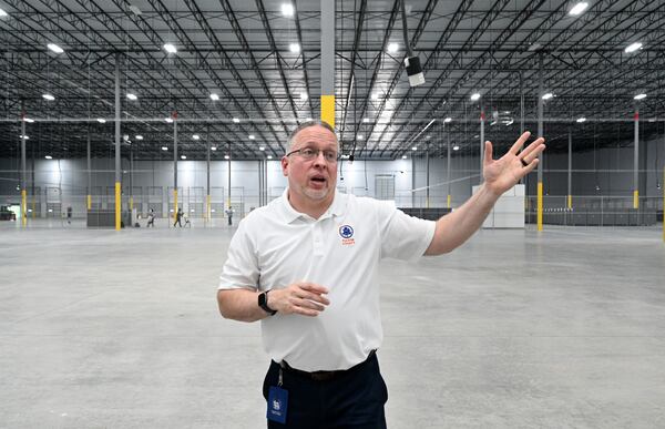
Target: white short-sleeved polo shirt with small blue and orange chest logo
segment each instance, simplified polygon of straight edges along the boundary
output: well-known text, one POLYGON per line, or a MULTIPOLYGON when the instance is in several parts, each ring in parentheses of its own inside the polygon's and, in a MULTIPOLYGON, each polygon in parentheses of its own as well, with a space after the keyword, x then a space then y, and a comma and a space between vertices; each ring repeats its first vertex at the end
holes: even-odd
POLYGON ((406 215, 389 202, 336 192, 318 219, 296 212, 288 190, 241 221, 231 241, 219 289, 268 290, 295 282, 328 288, 330 305, 317 317, 262 320, 264 348, 275 361, 305 371, 348 369, 383 339, 379 261, 416 261, 436 223, 406 215))

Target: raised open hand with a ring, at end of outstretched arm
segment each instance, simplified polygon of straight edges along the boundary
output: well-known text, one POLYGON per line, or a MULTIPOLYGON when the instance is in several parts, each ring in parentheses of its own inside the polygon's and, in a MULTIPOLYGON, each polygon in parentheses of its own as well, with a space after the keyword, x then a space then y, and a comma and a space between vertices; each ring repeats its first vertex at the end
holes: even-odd
POLYGON ((520 152, 520 149, 522 149, 530 135, 529 131, 522 134, 510 151, 499 160, 492 159, 492 143, 489 141, 485 142, 483 160, 484 185, 494 195, 500 196, 513 187, 538 165, 538 156, 545 150, 545 139, 536 139, 520 152))

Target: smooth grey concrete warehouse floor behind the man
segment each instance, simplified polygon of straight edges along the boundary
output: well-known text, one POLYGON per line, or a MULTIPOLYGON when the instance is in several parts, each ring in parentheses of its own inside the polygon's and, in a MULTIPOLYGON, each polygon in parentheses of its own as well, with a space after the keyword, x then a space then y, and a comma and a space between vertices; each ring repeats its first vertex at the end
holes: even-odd
MULTIPOLYGON (((0 427, 264 428, 232 233, 3 223, 0 427)), ((483 231, 381 279, 390 428, 665 427, 658 229, 483 231)))

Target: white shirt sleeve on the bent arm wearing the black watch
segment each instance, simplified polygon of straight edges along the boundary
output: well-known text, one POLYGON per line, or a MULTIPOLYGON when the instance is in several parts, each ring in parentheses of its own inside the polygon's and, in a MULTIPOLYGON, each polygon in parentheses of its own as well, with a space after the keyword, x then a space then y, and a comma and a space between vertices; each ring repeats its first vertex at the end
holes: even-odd
POLYGON ((238 229, 231 239, 227 259, 219 276, 218 289, 258 288, 258 259, 256 246, 247 228, 247 222, 241 221, 238 229))

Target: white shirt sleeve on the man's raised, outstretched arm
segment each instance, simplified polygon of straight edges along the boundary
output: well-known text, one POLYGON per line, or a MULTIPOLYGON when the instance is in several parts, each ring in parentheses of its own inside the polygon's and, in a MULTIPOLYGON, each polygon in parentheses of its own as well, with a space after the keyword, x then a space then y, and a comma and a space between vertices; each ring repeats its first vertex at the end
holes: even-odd
POLYGON ((415 262, 424 255, 437 223, 409 216, 388 202, 378 202, 378 225, 381 237, 381 258, 391 257, 415 262))

